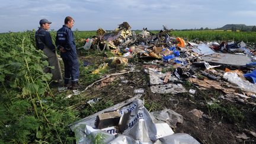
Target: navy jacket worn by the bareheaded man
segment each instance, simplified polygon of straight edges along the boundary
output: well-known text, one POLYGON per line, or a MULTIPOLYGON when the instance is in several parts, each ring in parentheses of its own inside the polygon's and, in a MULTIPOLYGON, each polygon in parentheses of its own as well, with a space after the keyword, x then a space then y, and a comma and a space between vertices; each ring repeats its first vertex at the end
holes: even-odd
POLYGON ((55 44, 57 49, 59 49, 60 46, 66 49, 66 52, 60 53, 60 56, 76 57, 76 44, 71 28, 63 25, 62 28, 57 31, 55 44))

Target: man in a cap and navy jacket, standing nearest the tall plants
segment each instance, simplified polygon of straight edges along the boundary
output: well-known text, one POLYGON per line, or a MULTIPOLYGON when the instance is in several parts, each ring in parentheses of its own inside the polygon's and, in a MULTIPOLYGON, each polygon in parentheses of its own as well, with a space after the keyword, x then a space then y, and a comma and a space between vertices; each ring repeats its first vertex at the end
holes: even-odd
POLYGON ((55 45, 52 43, 52 37, 50 33, 47 31, 50 28, 50 24, 52 22, 46 20, 45 18, 39 21, 40 27, 39 30, 36 31, 35 39, 36 39, 36 47, 37 49, 43 50, 44 55, 48 57, 49 66, 54 66, 53 69, 49 67, 44 69, 44 72, 52 73, 52 80, 57 82, 62 80, 62 73, 60 71, 60 64, 57 58, 55 45))

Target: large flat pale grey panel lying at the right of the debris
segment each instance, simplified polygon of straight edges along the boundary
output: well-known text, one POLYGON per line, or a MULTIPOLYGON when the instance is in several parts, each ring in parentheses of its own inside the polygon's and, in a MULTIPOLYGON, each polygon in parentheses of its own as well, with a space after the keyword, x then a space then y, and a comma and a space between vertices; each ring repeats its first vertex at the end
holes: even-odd
POLYGON ((206 62, 230 65, 230 66, 246 66, 251 63, 251 59, 247 55, 235 55, 229 53, 215 53, 213 55, 202 56, 206 62))

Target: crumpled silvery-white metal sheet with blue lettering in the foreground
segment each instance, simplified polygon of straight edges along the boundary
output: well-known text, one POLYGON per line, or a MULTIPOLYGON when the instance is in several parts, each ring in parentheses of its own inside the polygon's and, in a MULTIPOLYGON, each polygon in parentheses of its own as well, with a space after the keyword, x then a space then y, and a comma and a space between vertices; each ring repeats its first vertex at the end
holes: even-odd
POLYGON ((95 119, 103 111, 72 124, 76 143, 92 143, 96 136, 102 137, 102 143, 199 143, 185 133, 174 135, 171 127, 156 120, 143 104, 139 99, 129 100, 129 103, 123 102, 105 109, 104 111, 119 109, 121 118, 118 129, 115 126, 95 129, 95 119))

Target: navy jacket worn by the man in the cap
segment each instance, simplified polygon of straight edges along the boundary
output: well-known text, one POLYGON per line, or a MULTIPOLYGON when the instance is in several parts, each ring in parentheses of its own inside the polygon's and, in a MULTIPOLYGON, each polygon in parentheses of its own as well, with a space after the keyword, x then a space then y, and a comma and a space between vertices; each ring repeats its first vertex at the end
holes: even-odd
POLYGON ((52 37, 48 31, 40 27, 39 30, 36 31, 35 39, 37 49, 43 50, 44 46, 47 46, 49 49, 55 52, 55 45, 53 45, 52 37))

